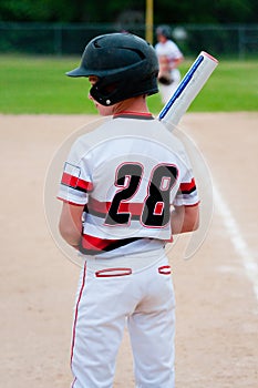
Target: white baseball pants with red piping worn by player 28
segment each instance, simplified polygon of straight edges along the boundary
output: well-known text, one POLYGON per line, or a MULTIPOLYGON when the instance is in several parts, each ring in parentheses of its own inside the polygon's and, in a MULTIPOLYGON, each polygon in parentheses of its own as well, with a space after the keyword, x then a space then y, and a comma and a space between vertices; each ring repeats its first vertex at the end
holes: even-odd
POLYGON ((126 323, 135 386, 174 388, 175 299, 164 249, 86 261, 74 310, 72 388, 113 387, 126 323))

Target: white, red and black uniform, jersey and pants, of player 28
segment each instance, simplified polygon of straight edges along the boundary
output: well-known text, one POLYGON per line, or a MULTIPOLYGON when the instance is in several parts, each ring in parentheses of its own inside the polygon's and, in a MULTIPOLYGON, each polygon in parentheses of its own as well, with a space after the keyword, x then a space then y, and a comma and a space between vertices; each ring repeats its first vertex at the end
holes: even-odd
POLYGON ((174 292, 164 245, 173 205, 198 203, 182 143, 151 114, 116 115, 74 143, 58 196, 84 206, 73 387, 112 387, 126 320, 136 386, 173 388, 174 292))

